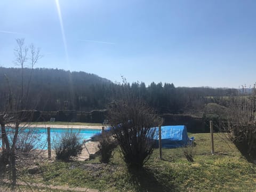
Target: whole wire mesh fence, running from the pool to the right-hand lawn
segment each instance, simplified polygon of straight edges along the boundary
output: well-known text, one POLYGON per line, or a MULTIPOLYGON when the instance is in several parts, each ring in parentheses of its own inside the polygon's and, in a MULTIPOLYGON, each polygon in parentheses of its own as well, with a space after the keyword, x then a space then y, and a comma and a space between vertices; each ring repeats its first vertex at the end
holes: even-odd
MULTIPOLYGON (((103 126, 104 127, 104 126, 103 126)), ((106 127, 105 127, 106 128, 106 127)), ((9 132, 12 129, 9 128, 9 132)), ((45 158, 55 158, 55 145, 61 142, 63 135, 75 133, 78 135, 79 142, 82 143, 81 154, 78 155, 79 161, 93 159, 99 155, 99 142, 93 139, 93 135, 101 134, 102 125, 29 125, 24 126, 19 133, 19 145, 33 147, 34 155, 45 158)), ((10 139, 11 139, 11 134, 10 139)), ((178 148, 162 148, 162 158, 169 159, 185 157, 186 151, 193 155, 210 155, 212 152, 211 134, 209 133, 188 133, 188 137, 194 137, 194 140, 187 146, 178 148)), ((227 133, 213 133, 214 153, 231 154, 235 151, 235 146, 228 140, 227 133)), ((1 138, 0 138, 1 140, 1 138)), ((2 141, 0 149, 2 148, 2 141)), ((115 158, 121 158, 119 150, 115 150, 115 158)), ((159 157, 159 148, 156 147, 152 158, 159 157)))

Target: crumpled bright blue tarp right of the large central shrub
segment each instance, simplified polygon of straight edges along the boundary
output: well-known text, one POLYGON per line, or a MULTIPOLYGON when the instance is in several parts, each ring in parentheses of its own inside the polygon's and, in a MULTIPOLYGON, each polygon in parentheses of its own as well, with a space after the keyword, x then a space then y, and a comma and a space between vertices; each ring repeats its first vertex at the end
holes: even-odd
MULTIPOLYGON (((185 125, 162 126, 161 131, 163 148, 184 147, 190 143, 185 125)), ((158 127, 156 127, 156 135, 154 139, 156 140, 156 145, 158 146, 158 127)))

